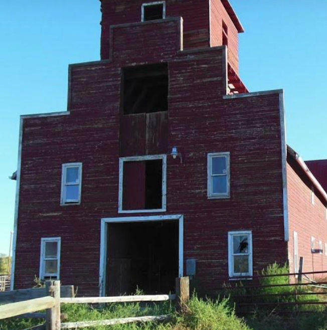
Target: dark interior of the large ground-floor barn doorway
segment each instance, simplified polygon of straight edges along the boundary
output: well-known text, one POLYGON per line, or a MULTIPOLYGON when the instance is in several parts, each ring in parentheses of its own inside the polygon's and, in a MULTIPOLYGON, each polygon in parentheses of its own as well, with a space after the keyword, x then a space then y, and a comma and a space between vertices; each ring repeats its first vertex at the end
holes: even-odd
POLYGON ((108 224, 106 295, 174 292, 178 274, 178 221, 108 224))

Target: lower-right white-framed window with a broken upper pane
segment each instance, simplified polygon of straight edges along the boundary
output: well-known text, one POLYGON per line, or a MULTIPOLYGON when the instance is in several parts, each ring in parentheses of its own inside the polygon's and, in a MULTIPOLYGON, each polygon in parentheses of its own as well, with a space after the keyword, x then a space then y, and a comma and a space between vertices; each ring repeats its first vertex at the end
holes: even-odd
POLYGON ((252 232, 228 233, 229 277, 252 276, 252 232))

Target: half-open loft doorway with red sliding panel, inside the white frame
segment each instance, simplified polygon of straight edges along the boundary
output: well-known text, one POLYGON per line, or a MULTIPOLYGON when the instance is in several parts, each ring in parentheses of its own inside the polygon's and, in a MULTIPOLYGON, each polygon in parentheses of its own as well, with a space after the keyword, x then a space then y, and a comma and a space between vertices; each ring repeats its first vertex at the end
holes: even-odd
POLYGON ((123 165, 123 210, 162 208, 162 159, 125 161, 123 165))

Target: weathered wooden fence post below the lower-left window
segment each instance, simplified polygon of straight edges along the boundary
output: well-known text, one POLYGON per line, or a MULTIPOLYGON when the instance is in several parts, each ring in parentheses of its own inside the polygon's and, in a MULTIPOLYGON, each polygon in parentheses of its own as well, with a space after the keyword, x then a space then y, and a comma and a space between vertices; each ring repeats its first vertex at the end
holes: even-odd
POLYGON ((46 330, 60 330, 60 281, 46 281, 46 292, 55 299, 55 306, 46 311, 46 330))

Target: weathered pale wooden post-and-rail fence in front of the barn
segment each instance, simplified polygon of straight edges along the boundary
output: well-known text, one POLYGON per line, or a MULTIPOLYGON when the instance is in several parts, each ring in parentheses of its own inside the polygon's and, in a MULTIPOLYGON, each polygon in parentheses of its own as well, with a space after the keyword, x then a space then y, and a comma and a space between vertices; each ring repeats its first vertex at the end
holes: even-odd
POLYGON ((188 277, 176 279, 176 294, 161 295, 134 295, 118 297, 74 297, 72 286, 60 287, 60 281, 47 281, 46 287, 41 289, 16 290, 0 293, 0 320, 21 316, 45 318, 45 324, 34 328, 34 330, 60 330, 77 329, 98 325, 126 324, 132 322, 164 321, 170 315, 140 316, 116 318, 96 321, 79 321, 62 323, 61 304, 68 303, 121 303, 121 302, 140 302, 140 301, 167 301, 177 300, 177 308, 183 311, 190 298, 190 281, 188 277), (6 294, 4 294, 6 293, 6 294), (29 299, 26 299, 28 298, 29 299), (33 298, 32 298, 33 297, 33 298), (13 302, 15 301, 15 302, 13 302), (45 314, 36 313, 46 310, 45 314))

